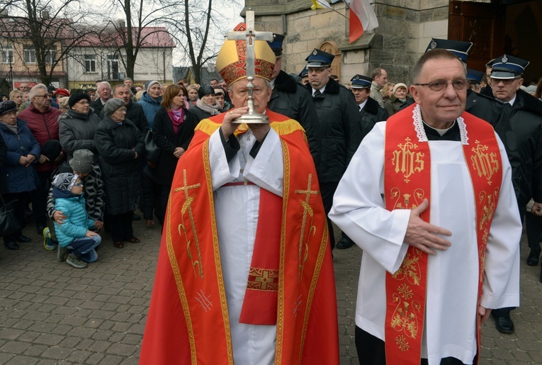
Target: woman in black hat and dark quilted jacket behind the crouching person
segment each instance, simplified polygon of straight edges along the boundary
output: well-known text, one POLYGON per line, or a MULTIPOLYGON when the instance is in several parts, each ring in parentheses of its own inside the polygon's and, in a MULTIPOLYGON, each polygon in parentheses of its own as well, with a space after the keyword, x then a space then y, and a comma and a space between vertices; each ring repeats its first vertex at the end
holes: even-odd
POLYGON ((73 94, 69 96, 68 111, 58 118, 60 145, 67 153, 68 161, 77 150, 90 150, 95 162, 98 161, 94 135, 100 118, 92 112, 90 103, 88 94, 73 94))

